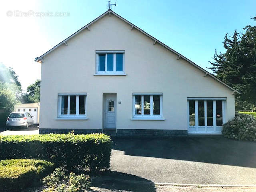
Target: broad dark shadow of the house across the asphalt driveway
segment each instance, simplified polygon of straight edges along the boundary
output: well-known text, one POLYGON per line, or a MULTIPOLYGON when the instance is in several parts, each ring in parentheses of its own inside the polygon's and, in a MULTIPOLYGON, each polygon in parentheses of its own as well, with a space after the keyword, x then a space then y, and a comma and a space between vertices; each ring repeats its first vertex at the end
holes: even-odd
POLYGON ((223 136, 113 138, 112 149, 130 156, 256 168, 256 142, 223 136))

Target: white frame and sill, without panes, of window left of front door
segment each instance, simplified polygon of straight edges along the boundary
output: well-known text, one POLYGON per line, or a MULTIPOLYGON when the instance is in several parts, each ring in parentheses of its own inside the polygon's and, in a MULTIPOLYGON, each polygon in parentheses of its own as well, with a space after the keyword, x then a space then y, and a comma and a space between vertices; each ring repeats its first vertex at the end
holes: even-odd
POLYGON ((58 93, 58 115, 56 120, 87 120, 87 94, 86 93, 58 93), (85 114, 79 114, 79 96, 85 96, 85 114), (61 114, 62 96, 68 96, 68 114, 61 114), (70 113, 70 96, 76 96, 76 114, 70 113))

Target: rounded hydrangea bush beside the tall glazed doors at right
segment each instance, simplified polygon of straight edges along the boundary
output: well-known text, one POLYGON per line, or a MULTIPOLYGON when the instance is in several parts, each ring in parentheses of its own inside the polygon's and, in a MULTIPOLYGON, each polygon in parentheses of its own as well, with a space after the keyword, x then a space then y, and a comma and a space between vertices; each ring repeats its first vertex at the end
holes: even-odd
POLYGON ((232 121, 223 124, 222 134, 227 138, 256 141, 256 118, 236 113, 232 121))

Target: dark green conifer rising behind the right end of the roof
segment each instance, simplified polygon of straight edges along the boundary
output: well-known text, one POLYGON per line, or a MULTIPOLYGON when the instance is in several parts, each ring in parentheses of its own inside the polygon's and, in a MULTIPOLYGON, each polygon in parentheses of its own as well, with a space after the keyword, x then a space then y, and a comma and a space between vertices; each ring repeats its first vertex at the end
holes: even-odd
MULTIPOLYGON (((256 21, 256 17, 252 20, 256 21)), ((225 53, 215 50, 212 67, 214 74, 242 94, 236 96, 237 110, 256 108, 256 26, 246 26, 244 33, 236 30, 225 35, 225 53)))

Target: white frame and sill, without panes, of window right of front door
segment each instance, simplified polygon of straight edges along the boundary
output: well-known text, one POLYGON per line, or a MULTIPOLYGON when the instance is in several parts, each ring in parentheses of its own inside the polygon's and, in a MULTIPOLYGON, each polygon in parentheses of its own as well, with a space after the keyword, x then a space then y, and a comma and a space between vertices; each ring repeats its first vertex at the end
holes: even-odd
POLYGON ((132 120, 165 120, 163 118, 163 94, 162 93, 133 93, 132 94, 132 120), (142 112, 141 115, 135 114, 135 96, 141 96, 142 112), (150 96, 150 114, 144 115, 144 95, 150 96), (160 96, 160 114, 153 114, 153 96, 160 96))

